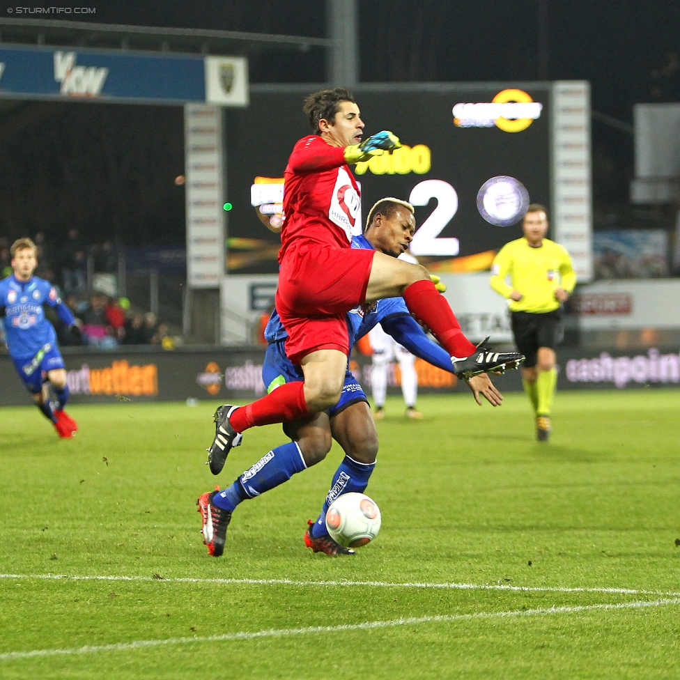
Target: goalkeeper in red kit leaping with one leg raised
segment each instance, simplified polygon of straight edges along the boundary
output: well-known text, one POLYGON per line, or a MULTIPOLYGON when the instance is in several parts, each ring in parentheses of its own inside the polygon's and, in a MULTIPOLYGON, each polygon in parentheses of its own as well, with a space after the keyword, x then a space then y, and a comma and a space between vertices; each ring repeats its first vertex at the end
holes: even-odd
POLYGON ((301 366, 304 382, 281 385, 247 406, 217 409, 208 449, 213 474, 247 428, 294 421, 337 403, 351 349, 345 314, 358 305, 402 296, 451 355, 460 378, 516 368, 523 360, 517 353, 475 347, 421 265, 351 247, 362 218, 360 191, 348 166, 399 148, 399 139, 387 131, 363 139, 359 107, 345 88, 309 95, 304 113, 313 134, 295 144, 284 173, 276 295, 288 333, 286 354, 301 366))

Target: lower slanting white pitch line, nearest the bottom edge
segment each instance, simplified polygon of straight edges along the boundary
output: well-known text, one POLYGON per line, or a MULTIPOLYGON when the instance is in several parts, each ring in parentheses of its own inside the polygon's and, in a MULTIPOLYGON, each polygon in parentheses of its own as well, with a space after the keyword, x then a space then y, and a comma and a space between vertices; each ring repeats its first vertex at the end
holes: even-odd
POLYGON ((343 631, 365 631, 371 628, 394 628, 396 626, 414 626, 416 624, 446 623, 448 621, 470 621, 473 619, 502 619, 508 617, 528 617, 547 614, 575 614, 592 610, 641 609, 647 607, 663 607, 680 604, 680 598, 660 599, 654 601, 627 602, 620 604, 582 605, 578 607, 551 607, 527 609, 511 612, 478 612, 477 614, 454 614, 429 617, 408 617, 392 619, 392 621, 365 621, 362 624, 343 624, 341 626, 309 626, 307 628, 280 628, 270 631, 241 631, 225 635, 210 635, 205 638, 168 638, 166 640, 137 640, 136 642, 118 642, 117 644, 100 644, 89 647, 72 647, 71 649, 34 649, 33 651, 9 651, 0 654, 0 661, 15 659, 56 656, 59 654, 93 654, 99 651, 125 651, 126 649, 142 649, 144 647, 162 647, 164 645, 195 644, 196 642, 228 642, 230 640, 254 640, 255 638, 283 638, 288 635, 308 635, 314 633, 341 633, 343 631))

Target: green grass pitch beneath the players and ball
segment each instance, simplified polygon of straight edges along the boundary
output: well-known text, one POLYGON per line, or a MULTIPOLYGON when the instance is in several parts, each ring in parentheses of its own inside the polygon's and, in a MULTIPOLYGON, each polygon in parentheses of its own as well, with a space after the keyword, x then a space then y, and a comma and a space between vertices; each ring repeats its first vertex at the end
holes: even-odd
POLYGON ((247 432, 212 477, 215 403, 73 406, 74 440, 35 408, 3 408, 0 571, 143 580, 0 578, 0 677, 677 678, 680 604, 640 603, 680 591, 680 392, 560 394, 548 444, 521 394, 497 409, 462 394, 418 405, 412 421, 388 399, 368 489, 383 528, 338 559, 302 542, 337 447, 243 503, 215 559, 196 497, 284 442, 278 426, 247 432), (330 581, 364 585, 318 585, 330 581), (615 604, 632 606, 597 606, 615 604), (111 644, 130 647, 7 656, 111 644))

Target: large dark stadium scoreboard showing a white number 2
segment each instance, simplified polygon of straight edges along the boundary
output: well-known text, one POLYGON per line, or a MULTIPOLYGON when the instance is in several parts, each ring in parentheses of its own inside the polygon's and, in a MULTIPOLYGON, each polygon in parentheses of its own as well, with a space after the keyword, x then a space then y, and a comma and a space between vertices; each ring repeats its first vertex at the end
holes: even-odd
MULTIPOLYGON (((314 86, 260 88, 252 88, 248 109, 225 112, 226 187, 233 203, 226 270, 231 274, 277 272, 279 236, 265 223, 280 224, 288 156, 295 142, 311 132, 302 102, 314 86)), ((385 196, 408 200, 417 219, 412 253, 422 263, 442 272, 488 268, 495 252, 521 235, 529 203, 553 210, 564 194, 555 185, 554 89, 552 83, 354 88, 364 139, 391 130, 403 144, 392 154, 353 167, 362 220, 385 196)), ((580 114, 583 118, 585 111, 580 114)), ((580 132, 589 137, 589 128, 580 132)), ((572 217, 567 215, 562 224, 571 219, 572 231, 579 231, 579 219, 589 227, 590 199, 589 159, 579 161, 578 151, 589 154, 589 148, 569 144, 567 139, 564 167, 571 162, 573 170, 580 162, 577 169, 585 179, 574 184, 572 178, 565 185, 567 194, 570 186, 572 194, 580 187, 583 196, 572 203, 580 214, 571 210, 572 217)), ((555 219, 551 222, 554 227, 555 219)), ((582 246, 584 239, 578 240, 582 246)))

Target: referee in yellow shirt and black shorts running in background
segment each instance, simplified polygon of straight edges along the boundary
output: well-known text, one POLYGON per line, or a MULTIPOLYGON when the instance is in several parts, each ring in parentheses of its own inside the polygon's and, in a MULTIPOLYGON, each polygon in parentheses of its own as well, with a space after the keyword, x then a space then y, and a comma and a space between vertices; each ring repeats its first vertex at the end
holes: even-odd
POLYGON ((557 386, 555 346, 561 331, 560 305, 571 295, 576 275, 569 253, 546 238, 546 208, 532 203, 522 229, 523 238, 506 243, 495 257, 491 287, 508 300, 517 350, 527 357, 522 382, 534 407, 536 438, 546 442, 557 386), (511 285, 505 281, 508 276, 511 285))

